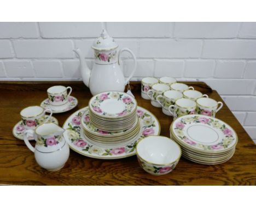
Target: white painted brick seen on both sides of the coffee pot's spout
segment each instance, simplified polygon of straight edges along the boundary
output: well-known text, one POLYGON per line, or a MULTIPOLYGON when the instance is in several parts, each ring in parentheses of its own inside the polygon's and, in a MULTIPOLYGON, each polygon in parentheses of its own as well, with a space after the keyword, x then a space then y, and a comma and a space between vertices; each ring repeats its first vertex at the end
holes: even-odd
MULTIPOLYGON (((85 60, 89 69, 92 69, 93 62, 92 60, 85 60)), ((63 73, 65 77, 68 78, 82 78, 80 73, 80 62, 79 60, 63 60, 63 73)))

